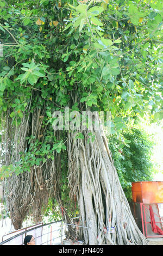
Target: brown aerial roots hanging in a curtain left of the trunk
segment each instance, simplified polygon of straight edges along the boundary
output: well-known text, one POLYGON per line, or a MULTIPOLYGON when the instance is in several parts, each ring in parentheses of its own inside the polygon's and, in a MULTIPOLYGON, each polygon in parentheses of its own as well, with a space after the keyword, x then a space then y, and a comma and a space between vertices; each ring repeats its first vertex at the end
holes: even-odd
MULTIPOLYGON (((17 163, 21 166, 21 155, 28 152, 29 148, 26 137, 32 135, 30 143, 33 144, 36 140, 43 141, 45 128, 42 127, 42 117, 45 109, 35 108, 31 112, 30 102, 20 124, 17 119, 13 123, 10 118, 11 109, 8 109, 5 117, 2 116, 1 162, 5 166, 16 166, 17 163)), ((59 187, 60 169, 56 164, 58 157, 59 154, 54 153, 54 160, 46 157, 46 161, 40 162, 39 166, 30 167, 30 172, 22 167, 20 174, 16 175, 14 172, 9 178, 3 179, 5 202, 15 229, 22 227, 28 214, 33 215, 35 223, 42 220, 42 206, 47 205, 49 197, 55 196, 59 187)))

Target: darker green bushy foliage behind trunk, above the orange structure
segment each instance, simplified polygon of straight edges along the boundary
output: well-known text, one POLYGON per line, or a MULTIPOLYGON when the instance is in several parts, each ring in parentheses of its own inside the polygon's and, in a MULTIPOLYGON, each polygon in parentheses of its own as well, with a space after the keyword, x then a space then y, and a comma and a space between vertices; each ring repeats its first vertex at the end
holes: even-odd
POLYGON ((130 147, 124 145, 119 149, 117 138, 110 136, 109 148, 112 152, 114 164, 120 178, 121 185, 128 200, 132 200, 131 182, 150 181, 155 172, 151 156, 154 141, 143 130, 132 127, 124 133, 130 147))

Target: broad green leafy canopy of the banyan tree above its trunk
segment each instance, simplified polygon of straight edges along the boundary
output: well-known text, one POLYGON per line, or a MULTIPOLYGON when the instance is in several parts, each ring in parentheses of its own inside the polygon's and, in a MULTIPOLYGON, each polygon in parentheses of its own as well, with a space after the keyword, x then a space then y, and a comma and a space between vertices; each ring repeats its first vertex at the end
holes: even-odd
MULTIPOLYGON (((29 111, 44 107, 46 127, 55 121, 54 110, 82 110, 84 102, 111 111, 112 133, 137 115, 151 112, 152 120, 161 119, 161 1, 68 4, 1 1, 1 113, 10 109, 12 124, 19 125, 29 111)), ((35 142, 21 153, 17 174, 46 156, 53 159, 54 149, 65 149, 64 139, 57 141, 50 127, 41 136, 27 137, 29 144, 35 142)))

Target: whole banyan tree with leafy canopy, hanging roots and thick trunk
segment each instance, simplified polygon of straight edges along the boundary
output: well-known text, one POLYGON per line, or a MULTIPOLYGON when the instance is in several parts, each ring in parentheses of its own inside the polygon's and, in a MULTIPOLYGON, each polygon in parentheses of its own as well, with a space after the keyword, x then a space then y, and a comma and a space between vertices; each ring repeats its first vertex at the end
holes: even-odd
POLYGON ((70 223, 66 179, 86 244, 147 245, 108 139, 122 148, 130 121, 162 118, 160 1, 0 6, 1 181, 15 229, 39 222, 51 197, 70 223))

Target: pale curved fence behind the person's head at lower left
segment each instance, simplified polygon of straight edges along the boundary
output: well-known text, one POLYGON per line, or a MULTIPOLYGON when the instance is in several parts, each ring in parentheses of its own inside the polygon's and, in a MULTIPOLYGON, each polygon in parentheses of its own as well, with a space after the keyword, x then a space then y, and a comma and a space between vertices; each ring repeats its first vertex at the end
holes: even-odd
MULTIPOLYGON (((8 234, 12 236, 2 241, 0 245, 23 245, 24 237, 28 234, 35 237, 35 245, 62 245, 66 239, 65 231, 68 230, 68 225, 71 225, 73 230, 82 227, 77 224, 63 223, 62 221, 47 224, 38 223, 32 227, 26 228, 26 230, 18 230, 18 234, 14 235, 15 232, 8 234)), ((5 236, 3 236, 3 239, 4 237, 5 236)), ((78 241, 78 244, 83 243, 84 241, 78 241)))

